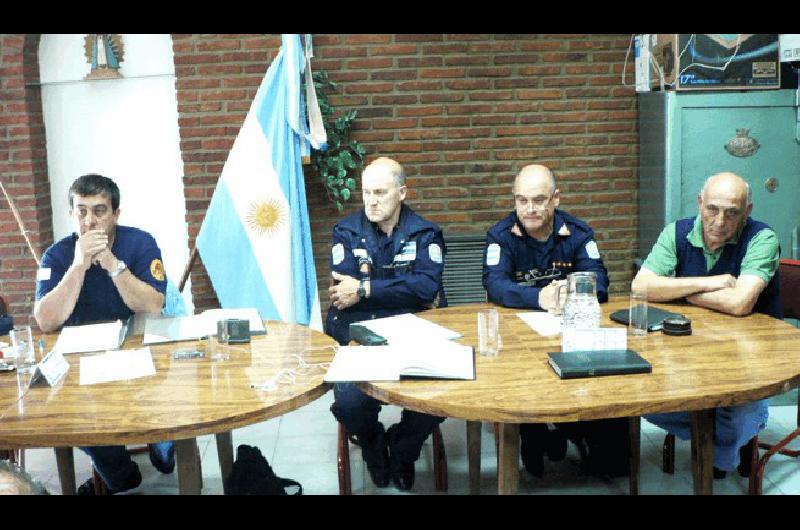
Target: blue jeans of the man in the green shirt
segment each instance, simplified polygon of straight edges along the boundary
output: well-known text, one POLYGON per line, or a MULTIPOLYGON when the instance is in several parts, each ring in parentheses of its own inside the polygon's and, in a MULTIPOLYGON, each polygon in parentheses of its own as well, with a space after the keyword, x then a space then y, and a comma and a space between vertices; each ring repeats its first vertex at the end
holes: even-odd
MULTIPOLYGON (((688 412, 650 414, 644 417, 681 440, 691 438, 688 412)), ((766 399, 719 407, 714 416, 714 467, 731 471, 739 465, 739 449, 767 426, 769 406, 766 399)))

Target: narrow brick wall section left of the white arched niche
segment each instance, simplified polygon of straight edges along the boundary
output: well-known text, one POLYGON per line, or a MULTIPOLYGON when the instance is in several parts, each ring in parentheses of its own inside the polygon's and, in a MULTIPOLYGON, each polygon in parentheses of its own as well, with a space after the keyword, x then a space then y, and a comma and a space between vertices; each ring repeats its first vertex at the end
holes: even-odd
MULTIPOLYGON (((0 35, 0 178, 41 255, 53 242, 39 83, 39 35, 0 35)), ((33 324, 36 263, 0 197, 0 295, 15 323, 33 324)))

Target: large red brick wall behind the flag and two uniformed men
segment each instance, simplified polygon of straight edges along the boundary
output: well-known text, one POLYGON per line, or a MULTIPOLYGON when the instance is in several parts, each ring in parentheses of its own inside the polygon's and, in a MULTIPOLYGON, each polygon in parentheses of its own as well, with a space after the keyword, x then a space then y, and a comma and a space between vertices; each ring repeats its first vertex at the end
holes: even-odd
MULTIPOLYGON (((277 35, 174 35, 190 245, 277 35)), ((368 159, 408 174, 408 203, 450 233, 483 233, 513 208, 528 163, 559 179, 561 208, 596 230, 611 292, 626 292, 637 246, 636 99, 620 74, 627 35, 314 35, 315 70, 339 83, 331 102, 358 109, 368 159)), ((628 65, 632 72, 632 64, 628 65)), ((630 83, 630 74, 628 76, 630 83)), ((320 297, 341 215, 307 174, 320 297)), ((360 197, 345 213, 354 211, 360 197)), ((217 302, 202 265, 198 309, 217 302)))

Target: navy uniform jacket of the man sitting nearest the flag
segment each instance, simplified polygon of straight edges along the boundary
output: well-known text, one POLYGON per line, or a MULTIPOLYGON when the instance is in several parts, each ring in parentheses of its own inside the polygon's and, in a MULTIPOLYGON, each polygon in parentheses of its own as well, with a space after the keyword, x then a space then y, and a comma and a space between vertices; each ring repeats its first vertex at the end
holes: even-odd
POLYGON ((325 332, 347 344, 350 323, 447 305, 442 286, 442 230, 406 205, 391 236, 360 210, 333 227, 331 271, 362 278, 359 259, 368 257, 370 296, 344 310, 331 306, 325 332))

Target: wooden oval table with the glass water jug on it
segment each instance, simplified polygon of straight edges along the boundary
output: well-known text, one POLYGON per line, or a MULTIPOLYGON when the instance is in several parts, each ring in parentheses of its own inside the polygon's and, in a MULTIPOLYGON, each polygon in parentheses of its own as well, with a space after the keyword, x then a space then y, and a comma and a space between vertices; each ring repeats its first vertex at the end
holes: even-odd
MULTIPOLYGON (((627 304, 627 298, 602 304, 601 325, 620 326, 608 315, 627 308, 627 304)), ((694 432, 695 493, 711 493, 714 408, 766 398, 799 386, 800 330, 762 314, 733 317, 688 304, 654 305, 689 317, 693 334, 629 336, 628 347, 652 364, 650 374, 561 380, 547 361, 547 352, 560 351, 560 335, 538 335, 516 316, 523 310, 469 304, 418 316, 462 333, 459 342, 474 346, 477 352, 476 312, 497 308, 502 349, 497 357, 476 353, 475 381, 375 382, 362 383, 361 387, 388 403, 467 420, 473 492, 480 470, 479 422, 502 424, 498 488, 500 493, 516 493, 520 423, 630 417, 635 437, 632 446, 638 456, 640 416, 689 411, 694 432)), ((636 492, 638 469, 632 469, 631 474, 632 492, 636 492)))

